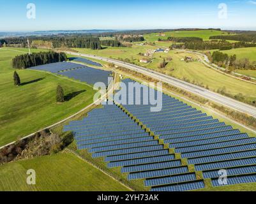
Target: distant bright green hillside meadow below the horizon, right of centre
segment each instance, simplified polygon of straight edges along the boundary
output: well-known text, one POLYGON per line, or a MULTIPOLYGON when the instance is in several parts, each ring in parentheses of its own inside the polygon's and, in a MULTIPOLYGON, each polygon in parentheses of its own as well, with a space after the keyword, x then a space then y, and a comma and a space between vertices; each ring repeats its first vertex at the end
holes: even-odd
POLYGON ((227 35, 223 31, 215 30, 200 30, 200 31, 170 31, 165 32, 165 36, 159 36, 160 33, 145 34, 144 38, 146 41, 154 42, 158 41, 158 38, 167 39, 168 37, 199 37, 203 40, 209 40, 210 36, 227 35))

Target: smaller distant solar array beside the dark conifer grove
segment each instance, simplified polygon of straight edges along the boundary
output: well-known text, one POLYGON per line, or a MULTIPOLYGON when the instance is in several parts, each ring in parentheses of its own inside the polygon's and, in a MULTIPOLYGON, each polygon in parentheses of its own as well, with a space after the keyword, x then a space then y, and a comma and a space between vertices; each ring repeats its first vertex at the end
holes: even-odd
MULTIPOLYGON (((87 61, 89 64, 95 66, 102 66, 93 61, 79 58, 81 60, 87 61)), ((34 66, 30 69, 50 71, 51 73, 57 73, 58 75, 63 75, 65 77, 74 78, 80 82, 86 82, 87 84, 95 84, 96 82, 103 82, 105 85, 109 85, 109 76, 111 71, 105 71, 102 69, 89 68, 82 64, 77 64, 73 62, 56 62, 51 64, 44 64, 40 66, 34 66)))

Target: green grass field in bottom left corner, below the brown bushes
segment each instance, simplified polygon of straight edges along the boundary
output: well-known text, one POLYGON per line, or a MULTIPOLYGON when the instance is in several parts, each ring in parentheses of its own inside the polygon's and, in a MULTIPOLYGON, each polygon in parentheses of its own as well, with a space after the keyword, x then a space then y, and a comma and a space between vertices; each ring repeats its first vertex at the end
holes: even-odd
POLYGON ((0 166, 0 191, 128 191, 102 171, 70 153, 59 153, 0 166), (36 185, 26 172, 36 171, 36 185))

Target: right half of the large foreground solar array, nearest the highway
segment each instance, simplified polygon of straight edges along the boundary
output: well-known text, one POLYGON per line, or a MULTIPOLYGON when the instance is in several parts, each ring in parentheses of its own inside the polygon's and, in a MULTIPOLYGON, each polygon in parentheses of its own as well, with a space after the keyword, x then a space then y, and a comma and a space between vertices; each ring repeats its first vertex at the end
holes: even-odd
MULTIPOLYGON (((126 79, 123 82, 128 87, 133 81, 126 79)), ((145 100, 144 87, 141 85, 141 92, 136 95, 137 103, 143 103, 145 100)), ((151 91, 154 92, 156 99, 157 91, 151 91)), ((133 93, 134 90, 126 92, 128 96, 132 96, 133 93)), ((181 154, 181 158, 188 159, 188 164, 195 165, 196 171, 203 171, 204 178, 213 175, 219 177, 216 172, 220 169, 227 169, 231 172, 230 175, 237 176, 243 172, 256 172, 256 168, 251 166, 256 163, 256 138, 250 138, 246 133, 241 133, 238 129, 233 129, 232 126, 211 116, 202 115, 202 112, 192 106, 165 94, 162 94, 160 112, 151 112, 151 105, 129 105, 130 103, 126 102, 123 107, 128 112, 135 115, 136 119, 164 143, 168 143, 170 149, 181 154), (231 171, 229 168, 235 169, 231 171)), ((135 102, 134 99, 133 104, 136 104, 135 102)), ((136 175, 141 177, 143 174, 137 173, 133 176, 136 175)))

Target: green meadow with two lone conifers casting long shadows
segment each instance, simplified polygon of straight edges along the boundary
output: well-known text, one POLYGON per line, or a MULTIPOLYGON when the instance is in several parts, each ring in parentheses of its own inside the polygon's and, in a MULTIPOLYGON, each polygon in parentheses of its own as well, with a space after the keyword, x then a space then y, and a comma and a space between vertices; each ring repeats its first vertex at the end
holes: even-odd
POLYGON ((0 146, 54 124, 93 102, 91 86, 42 71, 17 70, 24 84, 15 87, 11 59, 25 50, 0 49, 0 146), (58 84, 63 86, 66 96, 83 92, 57 104, 58 84))

